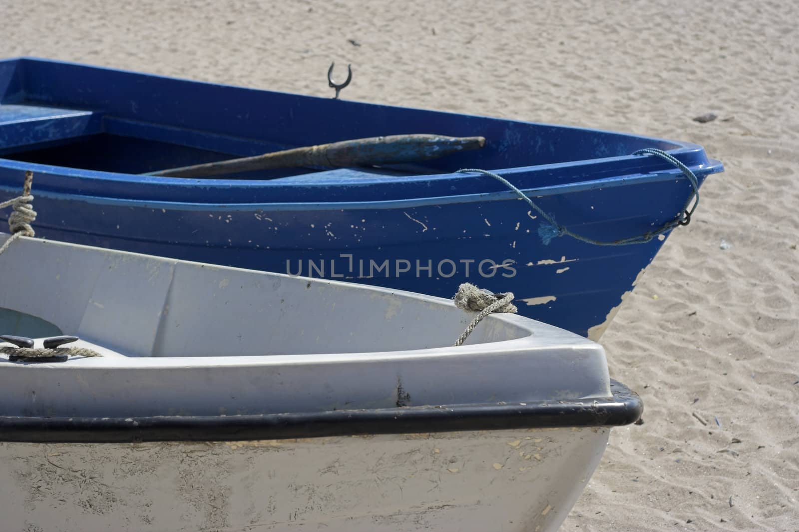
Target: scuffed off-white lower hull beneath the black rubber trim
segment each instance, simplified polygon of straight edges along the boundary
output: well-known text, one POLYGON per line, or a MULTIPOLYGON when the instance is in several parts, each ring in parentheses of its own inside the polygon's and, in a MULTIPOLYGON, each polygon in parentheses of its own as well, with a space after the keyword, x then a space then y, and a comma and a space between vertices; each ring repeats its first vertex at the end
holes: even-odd
POLYGON ((557 530, 609 427, 0 443, 3 530, 557 530))

